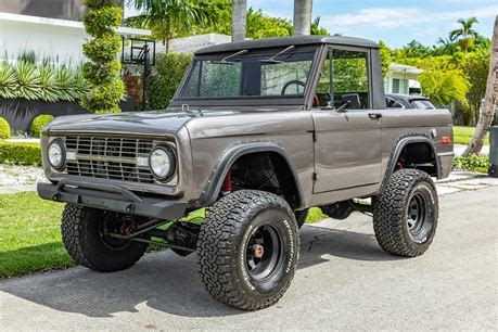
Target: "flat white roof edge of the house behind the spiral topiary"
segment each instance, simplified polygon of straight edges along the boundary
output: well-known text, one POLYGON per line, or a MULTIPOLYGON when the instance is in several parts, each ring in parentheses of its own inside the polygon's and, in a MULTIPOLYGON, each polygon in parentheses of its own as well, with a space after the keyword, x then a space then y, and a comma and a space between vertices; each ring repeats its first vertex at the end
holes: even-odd
MULTIPOLYGON (((82 22, 31 16, 31 15, 12 14, 12 13, 5 13, 5 12, 0 12, 0 21, 51 25, 51 26, 60 26, 60 27, 75 28, 75 29, 85 29, 82 22)), ((117 33, 124 36, 151 36, 152 35, 150 30, 137 29, 137 28, 130 28, 130 27, 124 27, 124 26, 119 26, 117 28, 117 33)))

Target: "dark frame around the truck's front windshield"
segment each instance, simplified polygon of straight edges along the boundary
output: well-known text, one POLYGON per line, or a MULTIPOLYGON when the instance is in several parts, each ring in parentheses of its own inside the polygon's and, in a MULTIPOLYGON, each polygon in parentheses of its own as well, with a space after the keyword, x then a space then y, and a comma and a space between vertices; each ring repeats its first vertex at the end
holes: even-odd
MULTIPOLYGON (((289 47, 289 46, 288 46, 289 47)), ((312 90, 314 80, 316 76, 317 67, 320 63, 322 44, 312 44, 312 46, 296 46, 291 52, 286 52, 281 56, 288 56, 295 53, 306 53, 312 52, 311 64, 306 79, 306 87, 303 91, 303 94, 276 94, 276 95, 234 95, 234 97, 195 97, 195 98, 186 98, 181 93, 187 87, 191 75, 194 73, 195 63, 199 61, 214 60, 219 61, 224 58, 233 54, 233 52, 220 52, 212 54, 201 54, 195 55, 192 59, 183 78, 177 89, 174 98, 171 99, 171 106, 180 106, 182 104, 189 105, 206 105, 206 106, 229 106, 229 105, 306 105, 309 98, 309 91, 312 90)), ((270 59, 276 53, 281 52, 284 48, 274 47, 274 48, 265 48, 265 49, 250 49, 246 54, 234 58, 254 58, 261 56, 270 59)), ((233 61, 233 59, 230 59, 233 61)))

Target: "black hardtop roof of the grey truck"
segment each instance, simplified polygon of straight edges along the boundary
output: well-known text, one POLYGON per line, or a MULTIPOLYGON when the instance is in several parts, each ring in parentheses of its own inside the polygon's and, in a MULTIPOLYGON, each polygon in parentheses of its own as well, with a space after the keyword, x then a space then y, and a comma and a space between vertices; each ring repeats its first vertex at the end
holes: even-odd
POLYGON ((378 49, 379 44, 368 39, 355 38, 355 37, 342 37, 342 36, 292 36, 292 37, 279 37, 279 38, 263 38, 263 39, 250 39, 244 41, 218 43, 207 48, 203 48, 195 52, 195 54, 208 54, 219 52, 230 52, 238 50, 247 49, 266 49, 276 47, 286 46, 302 46, 302 44, 340 44, 340 46, 353 46, 353 47, 365 47, 378 49))

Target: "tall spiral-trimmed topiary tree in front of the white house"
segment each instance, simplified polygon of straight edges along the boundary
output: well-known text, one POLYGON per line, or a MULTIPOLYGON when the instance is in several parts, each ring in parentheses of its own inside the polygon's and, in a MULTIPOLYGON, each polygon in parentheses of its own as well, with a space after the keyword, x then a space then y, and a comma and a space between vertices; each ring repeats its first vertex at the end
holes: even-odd
POLYGON ((86 0, 88 13, 84 16, 87 34, 92 37, 84 44, 84 54, 90 61, 84 64, 85 78, 91 90, 81 99, 82 107, 93 113, 120 112, 119 101, 125 87, 119 77, 117 59, 122 39, 116 28, 122 22, 123 8, 118 0, 86 0))

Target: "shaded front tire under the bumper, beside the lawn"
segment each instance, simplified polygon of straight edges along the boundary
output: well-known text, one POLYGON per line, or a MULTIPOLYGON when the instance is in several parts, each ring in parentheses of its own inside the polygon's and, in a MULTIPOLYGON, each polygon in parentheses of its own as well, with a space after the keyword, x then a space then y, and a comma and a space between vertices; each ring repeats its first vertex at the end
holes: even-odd
POLYGON ((66 204, 62 216, 62 241, 78 265, 100 272, 127 269, 143 256, 148 244, 126 240, 116 246, 106 243, 101 232, 105 213, 110 212, 66 204))

